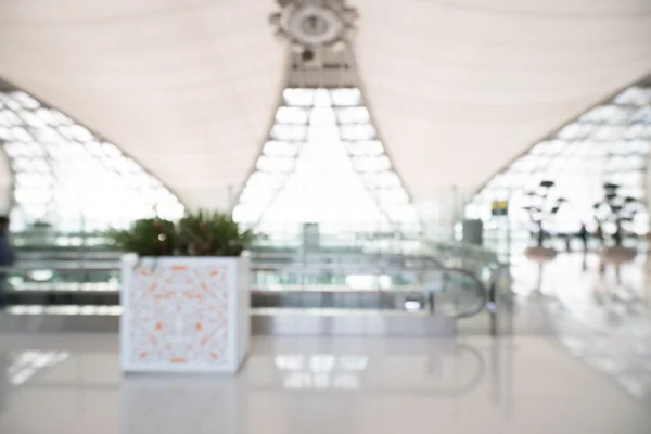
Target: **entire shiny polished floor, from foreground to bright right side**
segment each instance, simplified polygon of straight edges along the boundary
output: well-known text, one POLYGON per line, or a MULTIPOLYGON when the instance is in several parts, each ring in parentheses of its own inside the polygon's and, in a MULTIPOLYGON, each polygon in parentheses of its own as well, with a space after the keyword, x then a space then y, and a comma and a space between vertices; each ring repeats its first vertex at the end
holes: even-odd
MULTIPOLYGON (((651 433, 651 268, 513 267, 501 337, 255 337, 237 378, 123 376, 114 333, 1 333, 0 433, 651 433)), ((39 329, 40 330, 40 329, 39 329)))

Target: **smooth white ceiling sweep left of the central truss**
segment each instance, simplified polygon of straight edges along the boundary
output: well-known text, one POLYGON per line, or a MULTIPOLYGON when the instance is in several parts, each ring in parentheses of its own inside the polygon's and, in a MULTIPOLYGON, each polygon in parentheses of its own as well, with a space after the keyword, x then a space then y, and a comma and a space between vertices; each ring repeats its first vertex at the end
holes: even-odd
POLYGON ((190 206, 224 206, 280 99, 270 0, 0 0, 0 76, 94 129, 190 206))

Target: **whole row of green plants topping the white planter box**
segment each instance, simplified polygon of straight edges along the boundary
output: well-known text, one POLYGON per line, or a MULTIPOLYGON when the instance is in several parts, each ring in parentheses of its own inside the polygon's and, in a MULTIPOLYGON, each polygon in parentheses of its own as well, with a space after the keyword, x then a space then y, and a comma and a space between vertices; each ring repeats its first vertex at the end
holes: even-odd
POLYGON ((113 245, 140 256, 240 256, 253 242, 230 216, 200 210, 179 222, 136 220, 129 229, 106 233, 113 245))

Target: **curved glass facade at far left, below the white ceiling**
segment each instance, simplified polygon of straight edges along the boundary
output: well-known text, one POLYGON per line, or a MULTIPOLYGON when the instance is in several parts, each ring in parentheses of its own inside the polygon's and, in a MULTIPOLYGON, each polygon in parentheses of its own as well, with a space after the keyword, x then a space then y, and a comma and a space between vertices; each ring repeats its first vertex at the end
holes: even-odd
POLYGON ((0 90, 0 143, 13 175, 12 228, 60 232, 120 228, 184 208, 115 145, 17 90, 0 90))

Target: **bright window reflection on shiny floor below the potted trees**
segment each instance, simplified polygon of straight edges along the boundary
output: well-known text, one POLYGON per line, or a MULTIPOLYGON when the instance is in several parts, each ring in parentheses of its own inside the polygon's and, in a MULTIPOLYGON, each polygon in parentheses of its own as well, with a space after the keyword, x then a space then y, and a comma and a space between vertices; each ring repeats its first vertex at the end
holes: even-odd
POLYGON ((561 254, 513 267, 515 315, 545 316, 569 354, 651 401, 651 291, 647 258, 601 268, 595 255, 561 254), (540 278, 541 276, 541 278, 540 278))

